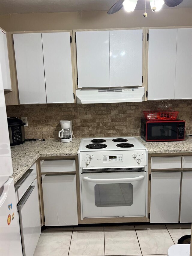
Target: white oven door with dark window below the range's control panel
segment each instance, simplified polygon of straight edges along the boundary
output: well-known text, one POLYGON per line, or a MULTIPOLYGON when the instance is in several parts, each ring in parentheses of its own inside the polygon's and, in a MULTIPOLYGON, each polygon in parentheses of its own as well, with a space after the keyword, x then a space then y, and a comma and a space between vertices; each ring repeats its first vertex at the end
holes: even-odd
POLYGON ((82 217, 146 216, 146 172, 82 173, 82 217))

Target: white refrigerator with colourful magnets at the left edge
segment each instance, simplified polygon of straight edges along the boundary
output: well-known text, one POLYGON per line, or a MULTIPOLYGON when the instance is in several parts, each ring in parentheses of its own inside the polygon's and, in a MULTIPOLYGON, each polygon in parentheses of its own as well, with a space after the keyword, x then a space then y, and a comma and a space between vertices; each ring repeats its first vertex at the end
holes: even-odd
POLYGON ((0 256, 22 256, 2 75, 0 72, 0 256))

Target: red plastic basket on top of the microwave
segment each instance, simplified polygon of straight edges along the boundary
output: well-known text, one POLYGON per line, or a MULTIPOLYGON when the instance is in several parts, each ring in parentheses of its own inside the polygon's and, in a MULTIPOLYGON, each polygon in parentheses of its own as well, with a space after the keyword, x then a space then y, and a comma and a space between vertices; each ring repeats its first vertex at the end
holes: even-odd
POLYGON ((162 120, 176 120, 178 111, 164 110, 164 111, 143 111, 145 119, 149 121, 162 121, 162 120))

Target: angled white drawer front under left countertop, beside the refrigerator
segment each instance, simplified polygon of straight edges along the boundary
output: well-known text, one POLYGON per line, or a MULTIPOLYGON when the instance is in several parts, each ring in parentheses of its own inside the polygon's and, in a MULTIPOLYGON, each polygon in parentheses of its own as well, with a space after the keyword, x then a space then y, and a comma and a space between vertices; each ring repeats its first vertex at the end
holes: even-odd
POLYGON ((25 194, 29 186, 32 184, 34 179, 37 176, 37 170, 36 170, 36 163, 33 164, 29 170, 26 171, 26 173, 21 177, 21 179, 16 182, 15 185, 19 185, 19 188, 17 189, 17 195, 18 195, 18 201, 22 198, 22 196, 25 194))

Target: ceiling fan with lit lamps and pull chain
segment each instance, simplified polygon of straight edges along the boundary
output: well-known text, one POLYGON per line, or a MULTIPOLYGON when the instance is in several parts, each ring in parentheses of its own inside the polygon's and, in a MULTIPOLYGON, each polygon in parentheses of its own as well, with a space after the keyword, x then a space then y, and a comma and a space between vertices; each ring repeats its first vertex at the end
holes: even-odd
MULTIPOLYGON (((183 0, 150 0, 152 11, 159 11, 165 3, 168 7, 175 7, 180 5, 183 0)), ((118 0, 107 12, 107 14, 114 14, 122 9, 124 6, 125 11, 134 11, 137 5, 137 0, 118 0)), ((146 0, 145 0, 145 12, 144 17, 147 17, 146 13, 146 0)))

